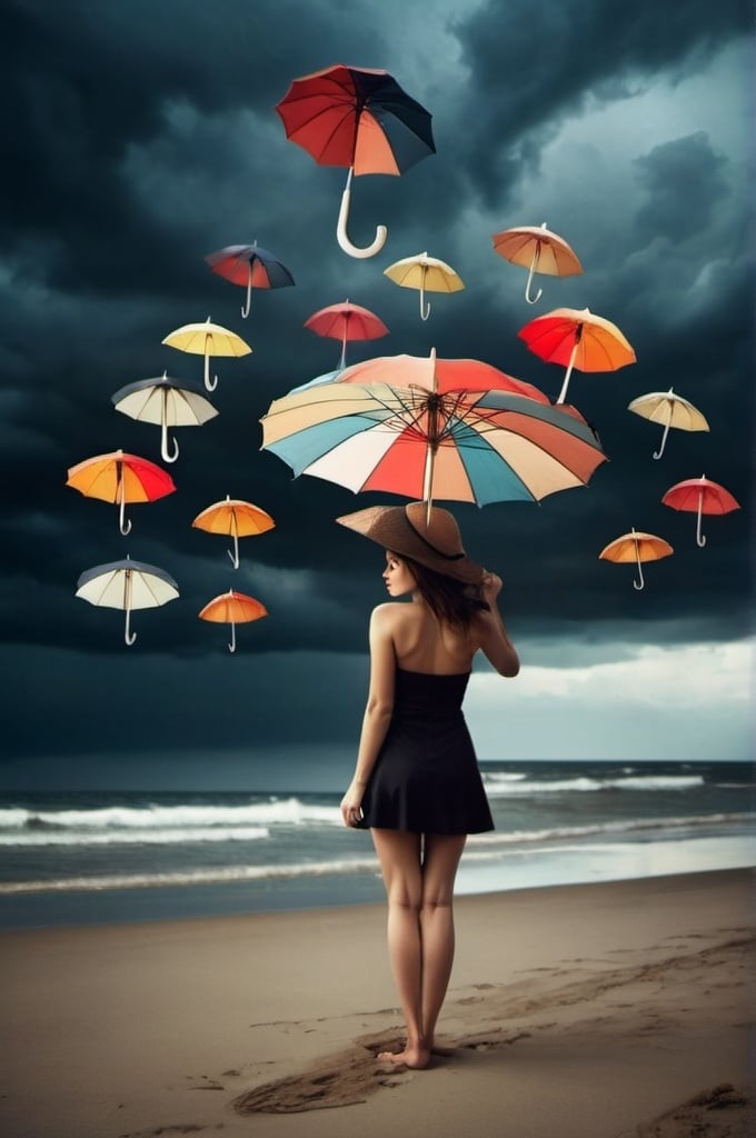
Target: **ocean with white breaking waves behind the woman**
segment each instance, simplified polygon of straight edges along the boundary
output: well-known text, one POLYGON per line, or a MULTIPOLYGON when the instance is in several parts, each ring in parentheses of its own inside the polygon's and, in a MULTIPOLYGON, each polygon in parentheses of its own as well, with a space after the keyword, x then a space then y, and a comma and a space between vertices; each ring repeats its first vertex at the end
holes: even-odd
MULTIPOLYGON (((756 863, 747 762, 480 764, 495 832, 458 894, 756 863)), ((318 908, 384 897, 340 793, 0 792, 0 929, 318 908)))

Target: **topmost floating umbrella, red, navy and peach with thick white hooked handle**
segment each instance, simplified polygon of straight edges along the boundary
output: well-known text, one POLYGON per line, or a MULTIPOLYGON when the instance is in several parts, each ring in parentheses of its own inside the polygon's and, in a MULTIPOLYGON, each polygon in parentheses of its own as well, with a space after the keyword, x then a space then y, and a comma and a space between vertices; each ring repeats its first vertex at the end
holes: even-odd
POLYGON ((351 257, 372 257, 386 242, 378 225, 367 248, 346 231, 352 176, 403 174, 435 154, 430 115, 385 71, 335 64, 295 79, 277 105, 286 137, 321 166, 348 167, 336 237, 351 257))

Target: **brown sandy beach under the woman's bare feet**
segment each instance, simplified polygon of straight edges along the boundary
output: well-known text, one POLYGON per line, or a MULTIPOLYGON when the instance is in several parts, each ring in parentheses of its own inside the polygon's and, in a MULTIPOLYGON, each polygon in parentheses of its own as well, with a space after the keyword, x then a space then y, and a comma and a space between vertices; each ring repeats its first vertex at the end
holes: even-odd
POLYGON ((462 897, 428 1071, 383 906, 0 935, 5 1138, 739 1138, 748 871, 462 897))

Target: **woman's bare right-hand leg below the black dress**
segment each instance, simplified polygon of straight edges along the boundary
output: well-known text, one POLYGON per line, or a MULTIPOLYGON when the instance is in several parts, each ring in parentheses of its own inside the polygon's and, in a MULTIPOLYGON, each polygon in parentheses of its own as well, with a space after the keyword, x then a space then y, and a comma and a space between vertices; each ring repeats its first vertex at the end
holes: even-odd
POLYGON ((454 960, 454 917, 452 897, 454 877, 465 849, 465 834, 426 834, 422 859, 422 901, 420 906, 421 1023, 426 1047, 434 1044, 454 960))

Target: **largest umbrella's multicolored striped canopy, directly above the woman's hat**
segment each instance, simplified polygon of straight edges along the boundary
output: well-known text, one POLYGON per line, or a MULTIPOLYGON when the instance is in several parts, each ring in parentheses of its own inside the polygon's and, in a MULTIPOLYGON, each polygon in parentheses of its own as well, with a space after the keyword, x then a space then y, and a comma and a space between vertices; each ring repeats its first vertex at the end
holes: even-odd
POLYGON ((585 422, 509 391, 336 382, 274 401, 263 450, 354 493, 428 503, 540 501, 582 486, 605 454, 585 422))

